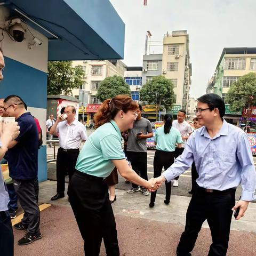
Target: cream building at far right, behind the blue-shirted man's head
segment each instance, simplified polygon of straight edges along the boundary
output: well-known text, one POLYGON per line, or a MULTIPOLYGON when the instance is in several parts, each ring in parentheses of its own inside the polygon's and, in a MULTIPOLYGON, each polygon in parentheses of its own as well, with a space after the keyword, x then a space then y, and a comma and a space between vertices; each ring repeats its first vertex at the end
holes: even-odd
POLYGON ((207 92, 212 92, 220 95, 225 101, 226 115, 230 123, 237 124, 241 118, 241 113, 232 113, 229 110, 229 102, 227 101, 227 93, 230 86, 237 79, 250 72, 256 73, 256 47, 232 47, 224 48, 215 73, 209 84, 207 92))

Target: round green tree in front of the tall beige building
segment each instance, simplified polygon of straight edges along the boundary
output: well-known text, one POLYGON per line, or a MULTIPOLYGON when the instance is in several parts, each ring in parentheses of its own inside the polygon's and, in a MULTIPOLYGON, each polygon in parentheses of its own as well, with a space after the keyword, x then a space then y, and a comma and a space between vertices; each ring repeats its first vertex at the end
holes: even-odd
POLYGON ((140 100, 158 106, 164 105, 166 111, 170 110, 174 102, 172 82, 164 76, 153 77, 140 90, 140 100))

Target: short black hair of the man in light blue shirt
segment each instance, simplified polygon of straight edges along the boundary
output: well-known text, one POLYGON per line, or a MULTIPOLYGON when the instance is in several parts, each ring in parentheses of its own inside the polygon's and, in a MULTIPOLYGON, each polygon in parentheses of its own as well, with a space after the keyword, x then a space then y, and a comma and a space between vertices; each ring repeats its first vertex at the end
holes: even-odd
POLYGON ((226 112, 225 102, 218 94, 207 93, 199 97, 197 100, 202 103, 206 103, 211 111, 214 108, 218 108, 221 118, 225 115, 225 112, 226 112))

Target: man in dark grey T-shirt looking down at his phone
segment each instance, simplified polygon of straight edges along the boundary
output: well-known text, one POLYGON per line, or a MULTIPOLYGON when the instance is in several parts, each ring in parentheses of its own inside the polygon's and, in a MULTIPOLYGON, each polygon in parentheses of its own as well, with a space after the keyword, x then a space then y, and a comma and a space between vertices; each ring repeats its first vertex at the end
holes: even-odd
MULTIPOLYGON (((141 178, 148 180, 148 167, 147 167, 147 138, 154 136, 151 123, 148 119, 141 116, 142 106, 139 104, 137 109, 137 119, 133 128, 129 131, 127 142, 127 158, 131 161, 133 170, 140 175, 141 178)), ((138 185, 132 183, 132 188, 127 190, 131 194, 137 191, 145 196, 149 195, 146 188, 139 188, 138 185)))

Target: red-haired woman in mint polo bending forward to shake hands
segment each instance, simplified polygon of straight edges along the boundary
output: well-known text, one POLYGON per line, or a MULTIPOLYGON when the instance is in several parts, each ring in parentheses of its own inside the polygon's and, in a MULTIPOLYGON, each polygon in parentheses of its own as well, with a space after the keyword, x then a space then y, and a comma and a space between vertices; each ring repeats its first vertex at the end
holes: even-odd
POLYGON ((94 116, 97 127, 77 158, 68 186, 69 202, 84 239, 86 256, 98 256, 103 238, 106 253, 119 256, 115 217, 105 178, 114 167, 126 179, 154 191, 154 179, 144 180, 126 161, 121 132, 132 129, 138 103, 128 95, 105 100, 94 116))

